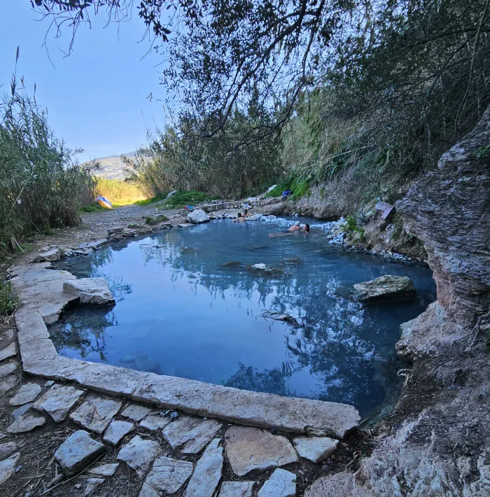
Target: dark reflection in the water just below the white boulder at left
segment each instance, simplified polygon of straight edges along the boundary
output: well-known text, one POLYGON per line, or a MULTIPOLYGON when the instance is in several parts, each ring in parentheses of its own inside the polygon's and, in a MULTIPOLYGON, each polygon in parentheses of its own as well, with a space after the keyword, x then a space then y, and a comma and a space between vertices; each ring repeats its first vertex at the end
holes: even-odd
POLYGON ((95 352, 105 361, 107 328, 118 325, 112 309, 108 306, 85 307, 66 313, 61 321, 49 329, 57 351, 64 348, 76 350, 81 358, 95 352))

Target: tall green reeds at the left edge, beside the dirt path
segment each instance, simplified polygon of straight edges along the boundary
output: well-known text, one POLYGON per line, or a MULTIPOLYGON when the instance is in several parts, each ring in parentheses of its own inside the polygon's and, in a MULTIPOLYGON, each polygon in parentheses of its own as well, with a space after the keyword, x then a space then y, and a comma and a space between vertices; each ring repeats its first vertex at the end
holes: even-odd
POLYGON ((94 202, 92 165, 54 137, 45 111, 17 90, 0 103, 0 253, 31 232, 80 223, 80 208, 94 202), (19 239, 19 240, 18 240, 19 239))

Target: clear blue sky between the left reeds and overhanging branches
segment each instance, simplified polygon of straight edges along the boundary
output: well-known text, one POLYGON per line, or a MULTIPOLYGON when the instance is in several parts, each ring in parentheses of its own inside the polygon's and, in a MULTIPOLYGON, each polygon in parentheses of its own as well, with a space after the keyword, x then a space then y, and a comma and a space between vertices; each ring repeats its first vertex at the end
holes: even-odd
POLYGON ((146 129, 164 124, 163 97, 157 65, 162 56, 145 55, 148 38, 141 43, 144 24, 134 12, 132 20, 104 27, 92 19, 92 29, 78 29, 73 52, 64 57, 71 31, 61 39, 48 38, 48 20, 38 22, 29 0, 0 0, 0 92, 10 88, 15 50, 20 46, 18 76, 36 101, 47 107, 50 126, 70 148, 83 148, 79 160, 134 151, 146 139, 146 129), (54 67, 53 67, 54 64, 54 67))

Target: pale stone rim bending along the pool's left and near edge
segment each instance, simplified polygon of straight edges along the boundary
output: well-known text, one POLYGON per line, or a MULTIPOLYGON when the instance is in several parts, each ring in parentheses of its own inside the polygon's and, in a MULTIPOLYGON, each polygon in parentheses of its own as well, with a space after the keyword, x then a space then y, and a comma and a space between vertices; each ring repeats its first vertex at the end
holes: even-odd
POLYGON ((12 276, 22 304, 15 313, 20 356, 29 374, 73 381, 160 408, 291 433, 343 438, 358 426, 360 416, 351 405, 239 390, 59 356, 45 320, 51 323, 52 316, 58 316, 67 304, 76 304, 76 297, 62 290, 64 281, 75 276, 52 269, 49 262, 18 266, 12 276), (43 298, 43 288, 49 292, 48 301, 43 298))

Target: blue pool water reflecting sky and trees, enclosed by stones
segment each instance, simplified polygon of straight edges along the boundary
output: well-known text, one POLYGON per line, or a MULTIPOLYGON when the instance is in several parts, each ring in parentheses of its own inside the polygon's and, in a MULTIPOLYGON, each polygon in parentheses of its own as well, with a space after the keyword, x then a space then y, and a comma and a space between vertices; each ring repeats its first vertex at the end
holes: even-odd
POLYGON ((60 354, 237 388, 347 402, 361 415, 393 387, 399 325, 435 300, 430 270, 329 245, 321 233, 229 220, 118 242, 58 264, 104 276, 116 306, 68 312, 60 354), (232 264, 226 264, 232 262, 232 264), (261 274, 250 265, 276 269, 261 274), (225 264, 225 267, 223 267, 225 264), (354 283, 409 276, 413 302, 363 306, 354 283), (300 327, 263 316, 287 313, 300 327))

